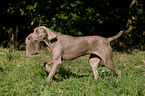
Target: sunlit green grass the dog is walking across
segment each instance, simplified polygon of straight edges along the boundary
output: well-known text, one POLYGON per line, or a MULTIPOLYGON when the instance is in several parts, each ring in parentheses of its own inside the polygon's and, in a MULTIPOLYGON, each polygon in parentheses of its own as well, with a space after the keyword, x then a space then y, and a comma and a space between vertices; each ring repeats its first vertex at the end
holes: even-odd
POLYGON ((63 61, 49 83, 43 64, 51 57, 47 50, 41 53, 40 58, 27 58, 25 51, 0 48, 0 96, 145 96, 145 52, 114 52, 122 78, 101 62, 94 80, 84 56, 63 61))

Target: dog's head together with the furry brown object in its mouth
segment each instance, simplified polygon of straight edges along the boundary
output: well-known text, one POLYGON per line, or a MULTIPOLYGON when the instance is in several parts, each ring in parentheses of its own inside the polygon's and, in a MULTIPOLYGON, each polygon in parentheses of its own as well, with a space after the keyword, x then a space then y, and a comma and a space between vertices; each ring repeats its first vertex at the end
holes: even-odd
POLYGON ((48 36, 48 40, 54 39, 55 34, 45 26, 37 27, 25 40, 26 56, 31 57, 33 54, 39 54, 39 42, 43 41, 48 36))

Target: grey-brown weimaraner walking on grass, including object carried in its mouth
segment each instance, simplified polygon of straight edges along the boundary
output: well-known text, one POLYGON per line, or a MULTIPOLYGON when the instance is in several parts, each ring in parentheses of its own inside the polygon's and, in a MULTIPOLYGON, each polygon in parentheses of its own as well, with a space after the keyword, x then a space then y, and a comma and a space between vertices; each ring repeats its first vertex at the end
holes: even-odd
POLYGON ((44 41, 48 45, 48 50, 52 56, 46 64, 46 69, 50 71, 47 80, 50 81, 56 73, 62 60, 72 60, 80 56, 90 54, 90 65, 97 79, 98 64, 102 59, 105 66, 113 70, 118 77, 121 77, 121 71, 113 64, 113 53, 110 42, 122 35, 120 31, 117 35, 104 38, 100 36, 72 37, 61 33, 54 32, 45 26, 37 27, 34 32, 26 38, 26 56, 39 53, 38 43, 44 41), (53 63, 50 70, 48 64, 53 63))

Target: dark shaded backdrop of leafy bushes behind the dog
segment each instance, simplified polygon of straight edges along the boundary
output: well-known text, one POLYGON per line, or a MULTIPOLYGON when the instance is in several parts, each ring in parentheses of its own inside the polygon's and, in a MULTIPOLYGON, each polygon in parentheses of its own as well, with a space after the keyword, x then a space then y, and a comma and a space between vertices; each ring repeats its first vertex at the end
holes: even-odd
POLYGON ((145 0, 1 0, 0 46, 25 49, 35 27, 71 36, 123 35, 115 50, 145 50, 145 0))

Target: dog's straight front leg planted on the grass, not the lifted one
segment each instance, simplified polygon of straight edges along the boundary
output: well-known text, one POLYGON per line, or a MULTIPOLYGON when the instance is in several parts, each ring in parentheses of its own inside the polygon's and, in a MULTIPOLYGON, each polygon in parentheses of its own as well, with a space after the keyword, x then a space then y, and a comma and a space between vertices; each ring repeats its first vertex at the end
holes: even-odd
POLYGON ((47 77, 47 81, 48 82, 52 79, 53 75, 56 73, 56 71, 57 71, 57 69, 58 69, 60 64, 61 64, 61 57, 59 59, 57 59, 57 60, 53 60, 52 69, 51 69, 51 71, 50 71, 50 73, 49 73, 49 75, 47 77))

